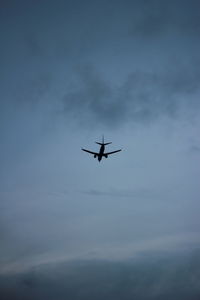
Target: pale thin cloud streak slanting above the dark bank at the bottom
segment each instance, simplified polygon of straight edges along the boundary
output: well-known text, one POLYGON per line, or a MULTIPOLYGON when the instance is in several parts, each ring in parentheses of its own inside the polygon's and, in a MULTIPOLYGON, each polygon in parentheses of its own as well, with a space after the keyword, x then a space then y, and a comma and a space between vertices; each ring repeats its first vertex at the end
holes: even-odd
POLYGON ((66 254, 62 251, 44 252, 32 254, 31 258, 19 258, 16 261, 1 265, 0 274, 21 273, 32 268, 48 264, 58 264, 60 262, 70 262, 77 260, 108 260, 121 261, 126 259, 137 258, 142 254, 150 253, 176 253, 190 251, 199 247, 199 238, 197 233, 164 235, 153 239, 142 241, 92 247, 90 251, 74 251, 72 254, 66 254))

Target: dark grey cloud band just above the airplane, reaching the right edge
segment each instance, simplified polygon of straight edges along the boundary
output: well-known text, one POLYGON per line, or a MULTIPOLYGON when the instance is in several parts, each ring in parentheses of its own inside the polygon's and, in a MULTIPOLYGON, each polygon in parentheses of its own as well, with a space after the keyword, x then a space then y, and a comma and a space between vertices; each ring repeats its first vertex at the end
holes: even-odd
POLYGON ((114 87, 92 67, 82 68, 79 83, 64 99, 64 112, 83 126, 118 126, 124 121, 149 123, 161 116, 177 117, 181 110, 199 108, 198 66, 163 72, 134 71, 114 87))

